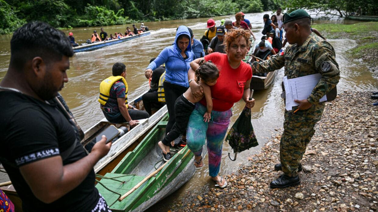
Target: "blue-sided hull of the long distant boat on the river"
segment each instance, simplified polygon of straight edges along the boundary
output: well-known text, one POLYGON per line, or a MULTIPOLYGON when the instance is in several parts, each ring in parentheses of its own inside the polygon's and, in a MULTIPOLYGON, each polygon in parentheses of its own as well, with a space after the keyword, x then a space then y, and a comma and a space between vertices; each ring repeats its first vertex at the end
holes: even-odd
POLYGON ((144 36, 149 35, 149 34, 151 34, 151 32, 147 31, 147 32, 141 33, 140 35, 128 36, 128 37, 121 38, 121 39, 117 38, 117 39, 113 39, 113 40, 110 40, 110 41, 101 41, 101 42, 97 42, 97 43, 73 47, 72 49, 75 53, 76 52, 89 52, 89 51, 93 51, 93 50, 96 50, 96 49, 100 49, 100 48, 105 47, 105 46, 111 46, 111 45, 114 45, 114 44, 129 41, 129 40, 132 40, 132 39, 135 39, 135 38, 144 37, 144 36))

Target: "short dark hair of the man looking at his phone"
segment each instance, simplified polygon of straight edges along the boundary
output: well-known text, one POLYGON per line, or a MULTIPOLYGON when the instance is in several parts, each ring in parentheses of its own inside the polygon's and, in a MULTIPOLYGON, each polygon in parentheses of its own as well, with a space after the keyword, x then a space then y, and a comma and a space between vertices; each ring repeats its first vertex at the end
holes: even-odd
POLYGON ((33 21, 14 31, 11 39, 10 65, 22 70, 26 61, 37 56, 48 64, 60 61, 62 56, 73 56, 69 38, 50 24, 33 21))

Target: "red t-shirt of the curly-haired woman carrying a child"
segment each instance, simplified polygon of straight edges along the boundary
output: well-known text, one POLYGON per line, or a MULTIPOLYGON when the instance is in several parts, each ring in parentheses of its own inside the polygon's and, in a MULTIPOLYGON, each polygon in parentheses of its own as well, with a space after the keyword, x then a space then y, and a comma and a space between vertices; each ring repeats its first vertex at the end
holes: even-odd
MULTIPOLYGON (((239 67, 232 69, 227 55, 219 52, 206 55, 204 59, 211 60, 218 67, 220 73, 217 83, 210 86, 213 110, 229 110, 235 102, 242 99, 246 81, 252 77, 252 68, 241 61, 239 67)), ((206 106, 205 98, 200 102, 206 106)))

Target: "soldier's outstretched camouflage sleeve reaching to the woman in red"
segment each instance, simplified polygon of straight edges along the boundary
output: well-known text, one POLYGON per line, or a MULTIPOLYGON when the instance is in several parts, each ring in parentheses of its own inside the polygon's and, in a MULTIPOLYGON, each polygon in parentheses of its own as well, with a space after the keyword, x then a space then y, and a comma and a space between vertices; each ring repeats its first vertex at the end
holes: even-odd
POLYGON ((251 67, 253 69, 253 72, 260 72, 260 73, 266 73, 266 72, 273 72, 274 70, 280 69, 285 65, 285 58, 282 55, 280 55, 281 52, 279 52, 276 55, 273 55, 270 57, 270 59, 267 59, 262 62, 253 62, 251 64, 251 67))

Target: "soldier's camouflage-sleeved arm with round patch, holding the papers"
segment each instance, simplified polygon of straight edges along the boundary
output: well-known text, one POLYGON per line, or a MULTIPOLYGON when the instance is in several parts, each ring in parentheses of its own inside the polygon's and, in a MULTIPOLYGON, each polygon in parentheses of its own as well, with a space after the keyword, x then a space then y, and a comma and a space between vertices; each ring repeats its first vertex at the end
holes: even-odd
POLYGON ((321 44, 314 51, 313 57, 314 67, 322 75, 322 78, 307 100, 311 104, 317 104, 319 99, 338 84, 340 70, 335 59, 335 50, 327 41, 321 41, 321 44))

